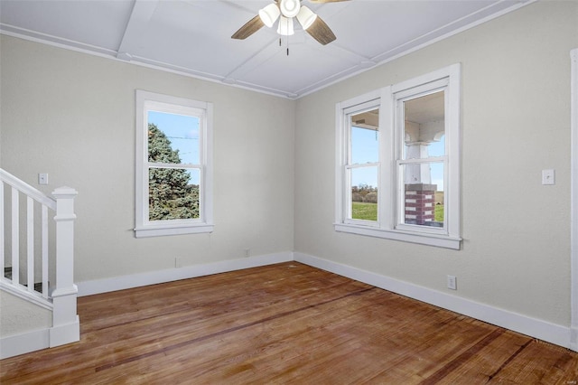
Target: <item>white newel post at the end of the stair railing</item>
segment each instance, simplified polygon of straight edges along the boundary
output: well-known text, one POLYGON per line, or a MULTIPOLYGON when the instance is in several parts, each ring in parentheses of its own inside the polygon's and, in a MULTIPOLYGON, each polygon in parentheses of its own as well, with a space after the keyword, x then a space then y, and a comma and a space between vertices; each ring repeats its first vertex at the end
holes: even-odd
POLYGON ((76 313, 79 289, 74 285, 74 198, 77 194, 70 187, 60 187, 52 192, 56 199, 56 286, 51 295, 51 347, 80 339, 79 316, 76 313))

